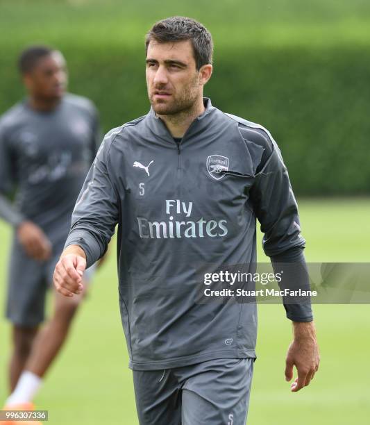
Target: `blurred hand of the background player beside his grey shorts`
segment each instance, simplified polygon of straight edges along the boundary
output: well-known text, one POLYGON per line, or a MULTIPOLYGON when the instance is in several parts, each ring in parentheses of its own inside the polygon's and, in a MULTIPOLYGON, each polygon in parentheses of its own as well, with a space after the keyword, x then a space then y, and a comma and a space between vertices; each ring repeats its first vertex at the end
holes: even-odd
POLYGON ((51 256, 51 243, 42 229, 33 222, 22 222, 17 237, 27 255, 35 260, 47 260, 51 256))

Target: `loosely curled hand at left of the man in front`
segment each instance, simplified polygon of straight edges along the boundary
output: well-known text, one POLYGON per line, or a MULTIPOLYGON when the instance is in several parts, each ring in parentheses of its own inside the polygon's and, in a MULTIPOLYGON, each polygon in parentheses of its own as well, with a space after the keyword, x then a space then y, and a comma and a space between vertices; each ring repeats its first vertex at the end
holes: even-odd
POLYGON ((70 245, 60 256, 54 270, 54 286, 65 297, 83 292, 82 276, 86 269, 85 251, 78 245, 70 245))

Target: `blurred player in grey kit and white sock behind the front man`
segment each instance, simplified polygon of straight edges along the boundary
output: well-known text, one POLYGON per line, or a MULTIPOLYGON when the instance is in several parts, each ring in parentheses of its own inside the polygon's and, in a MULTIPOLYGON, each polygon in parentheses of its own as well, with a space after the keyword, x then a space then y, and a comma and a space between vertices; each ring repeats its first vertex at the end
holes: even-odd
POLYGON ((28 97, 0 119, 0 216, 14 228, 6 306, 12 322, 12 393, 6 408, 28 409, 83 298, 55 292, 53 317, 40 329, 45 294, 100 132, 93 103, 65 94, 60 51, 29 47, 19 57, 19 70, 28 97))

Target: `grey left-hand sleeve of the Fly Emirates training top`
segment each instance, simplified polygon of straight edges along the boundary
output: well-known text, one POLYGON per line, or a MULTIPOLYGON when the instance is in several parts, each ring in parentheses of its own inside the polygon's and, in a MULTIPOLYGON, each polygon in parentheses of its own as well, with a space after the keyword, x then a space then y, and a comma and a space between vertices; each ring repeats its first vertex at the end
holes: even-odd
POLYGON ((65 243, 65 247, 77 244, 85 251, 87 267, 106 252, 119 217, 119 199, 108 172, 111 141, 108 133, 78 196, 65 243))

